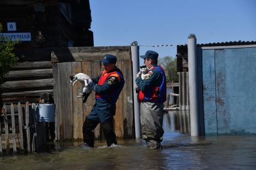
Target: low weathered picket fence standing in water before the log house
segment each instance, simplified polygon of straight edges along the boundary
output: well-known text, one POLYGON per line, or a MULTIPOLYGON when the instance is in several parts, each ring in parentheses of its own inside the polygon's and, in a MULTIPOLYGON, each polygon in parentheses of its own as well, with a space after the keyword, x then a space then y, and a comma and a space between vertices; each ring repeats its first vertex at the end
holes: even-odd
POLYGON ((37 122, 35 104, 4 105, 0 117, 0 154, 35 152, 46 144, 44 123, 37 122))

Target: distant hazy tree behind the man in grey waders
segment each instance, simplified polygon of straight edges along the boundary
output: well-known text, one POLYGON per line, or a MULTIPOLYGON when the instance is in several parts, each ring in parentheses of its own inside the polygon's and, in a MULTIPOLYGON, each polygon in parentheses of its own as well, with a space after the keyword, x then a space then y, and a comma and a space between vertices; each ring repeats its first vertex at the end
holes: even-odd
POLYGON ((178 82, 177 57, 173 59, 171 56, 165 56, 159 60, 159 65, 165 70, 167 82, 178 82))

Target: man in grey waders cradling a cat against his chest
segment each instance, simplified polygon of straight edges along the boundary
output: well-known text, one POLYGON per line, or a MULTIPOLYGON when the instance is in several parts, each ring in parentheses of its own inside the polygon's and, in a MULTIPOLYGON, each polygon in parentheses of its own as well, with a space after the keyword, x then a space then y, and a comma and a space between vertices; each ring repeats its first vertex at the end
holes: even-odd
POLYGON ((147 76, 142 80, 141 72, 136 75, 138 100, 141 102, 142 138, 149 148, 161 148, 163 139, 163 102, 166 101, 166 77, 161 66, 157 66, 158 53, 147 51, 144 64, 148 68, 147 76))

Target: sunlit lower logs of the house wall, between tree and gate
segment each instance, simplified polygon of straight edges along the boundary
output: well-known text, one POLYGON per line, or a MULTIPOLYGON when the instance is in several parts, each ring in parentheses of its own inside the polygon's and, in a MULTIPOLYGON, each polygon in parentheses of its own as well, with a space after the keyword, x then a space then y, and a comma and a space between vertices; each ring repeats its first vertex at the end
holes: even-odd
POLYGON ((52 77, 50 61, 17 63, 0 86, 2 103, 38 102, 45 93, 53 95, 52 77))

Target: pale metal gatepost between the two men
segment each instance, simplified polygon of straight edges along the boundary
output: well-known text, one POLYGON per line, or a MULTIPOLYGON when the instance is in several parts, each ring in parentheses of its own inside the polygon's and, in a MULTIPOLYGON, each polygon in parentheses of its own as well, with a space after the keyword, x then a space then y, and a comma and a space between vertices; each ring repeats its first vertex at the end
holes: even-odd
POLYGON ((138 94, 135 91, 136 74, 139 72, 139 46, 138 42, 134 41, 131 46, 132 53, 132 76, 133 76, 133 106, 134 106, 134 122, 135 122, 135 137, 141 138, 141 118, 139 113, 138 94))

